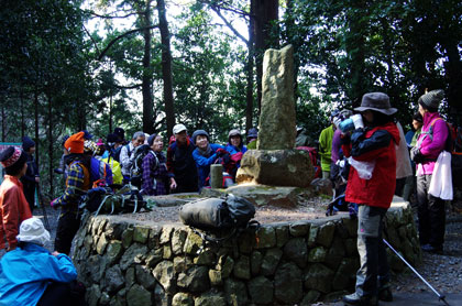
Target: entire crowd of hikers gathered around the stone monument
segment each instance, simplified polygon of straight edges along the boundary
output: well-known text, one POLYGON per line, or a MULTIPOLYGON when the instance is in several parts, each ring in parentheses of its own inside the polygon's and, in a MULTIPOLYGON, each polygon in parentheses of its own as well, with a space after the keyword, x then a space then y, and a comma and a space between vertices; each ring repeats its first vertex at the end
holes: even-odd
MULTIPOLYGON (((448 174, 443 165, 448 164, 448 154, 451 157, 454 140, 460 138, 438 113, 442 99, 442 90, 422 95, 418 99, 419 110, 413 117, 414 130, 405 135, 402 125, 395 122, 397 110, 391 107, 388 96, 365 94, 361 107, 354 109, 355 114, 348 109, 333 111, 331 125, 320 134, 318 175, 332 182, 334 200, 330 212, 350 210, 359 222, 361 267, 355 292, 343 298, 348 304, 376 305, 377 299, 393 299, 382 229, 394 194, 406 200, 415 194, 421 249, 442 252, 444 200, 452 199, 452 182, 448 184, 440 178, 448 174)), ((182 123, 172 132, 166 154, 162 135, 139 131, 127 141, 122 128, 108 134, 106 142, 96 140, 88 131, 63 139, 61 166, 55 172, 63 175, 65 190, 51 201, 53 208, 62 211, 53 253, 43 248, 50 233, 32 216, 40 182, 33 159, 35 143, 25 136, 22 149, 10 146, 1 152, 6 176, 0 186, 0 249, 7 253, 0 263, 0 304, 21 300, 21 305, 59 305, 46 300, 51 296, 61 300, 57 299, 61 296, 68 298, 81 293, 68 255, 80 226, 82 197, 90 190, 101 187, 117 190, 129 185, 141 196, 197 193, 210 185, 210 166, 217 163, 223 166, 227 187, 226 182, 235 179, 243 154, 256 149, 256 129, 248 131, 246 145, 237 129, 229 131, 227 145, 210 143, 205 130, 189 135, 182 123), (50 266, 48 271, 19 277, 18 273, 33 261, 50 266), (19 264, 22 267, 15 269, 19 264)), ((317 150, 300 143, 307 135, 297 132, 297 147, 308 151, 317 165, 317 150)))

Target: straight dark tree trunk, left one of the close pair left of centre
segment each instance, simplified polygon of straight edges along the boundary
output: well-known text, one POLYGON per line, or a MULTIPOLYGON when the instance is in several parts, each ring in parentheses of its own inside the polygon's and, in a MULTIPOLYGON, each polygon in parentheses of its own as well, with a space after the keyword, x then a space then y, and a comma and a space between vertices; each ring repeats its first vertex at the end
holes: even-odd
MULTIPOLYGON (((142 14, 143 26, 151 25, 151 0, 146 0, 146 8, 142 14)), ((144 55, 143 55, 143 131, 152 134, 154 132, 154 106, 152 97, 152 73, 151 73, 151 29, 143 30, 144 55)))

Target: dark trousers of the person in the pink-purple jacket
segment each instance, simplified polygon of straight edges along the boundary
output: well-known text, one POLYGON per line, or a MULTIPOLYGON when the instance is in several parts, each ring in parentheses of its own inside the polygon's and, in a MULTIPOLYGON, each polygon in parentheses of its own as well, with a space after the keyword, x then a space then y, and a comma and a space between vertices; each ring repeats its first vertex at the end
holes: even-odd
POLYGON ((428 193, 431 174, 417 176, 417 216, 419 218, 420 244, 430 243, 440 248, 444 242, 446 210, 444 200, 428 193))

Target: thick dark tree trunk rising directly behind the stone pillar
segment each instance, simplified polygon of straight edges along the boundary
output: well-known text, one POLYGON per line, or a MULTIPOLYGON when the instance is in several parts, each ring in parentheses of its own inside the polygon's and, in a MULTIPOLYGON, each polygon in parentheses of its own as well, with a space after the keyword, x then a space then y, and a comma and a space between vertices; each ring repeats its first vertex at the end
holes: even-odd
POLYGON ((278 46, 278 39, 272 39, 271 31, 272 22, 278 20, 279 3, 277 0, 251 0, 251 7, 255 17, 256 96, 260 113, 262 108, 263 55, 266 48, 278 46))

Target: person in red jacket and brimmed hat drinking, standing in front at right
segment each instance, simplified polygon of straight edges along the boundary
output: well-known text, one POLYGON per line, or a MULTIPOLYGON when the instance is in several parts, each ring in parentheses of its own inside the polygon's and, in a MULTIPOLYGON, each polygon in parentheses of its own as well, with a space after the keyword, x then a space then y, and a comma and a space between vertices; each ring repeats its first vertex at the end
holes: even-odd
POLYGON ((344 296, 343 302, 348 305, 378 305, 377 299, 393 299, 382 229, 395 193, 395 144, 399 143, 399 131, 392 116, 396 109, 391 107, 385 94, 365 94, 361 107, 355 110, 361 112, 365 128, 354 130, 351 136, 343 135, 342 149, 345 156, 353 159, 345 200, 359 206, 361 266, 356 273, 356 291, 344 296), (365 164, 369 164, 369 176, 359 171, 360 165, 365 164))

